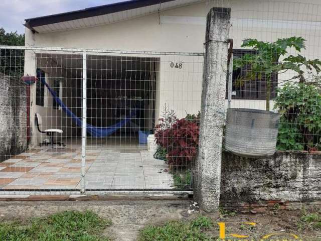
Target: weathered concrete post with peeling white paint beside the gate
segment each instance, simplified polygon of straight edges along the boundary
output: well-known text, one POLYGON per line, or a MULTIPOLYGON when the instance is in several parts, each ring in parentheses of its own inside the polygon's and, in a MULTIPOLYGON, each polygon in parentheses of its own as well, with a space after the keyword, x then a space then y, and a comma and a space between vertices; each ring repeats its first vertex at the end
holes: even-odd
POLYGON ((206 212, 218 211, 220 201, 230 13, 229 8, 213 8, 207 15, 200 142, 194 188, 196 201, 206 212))

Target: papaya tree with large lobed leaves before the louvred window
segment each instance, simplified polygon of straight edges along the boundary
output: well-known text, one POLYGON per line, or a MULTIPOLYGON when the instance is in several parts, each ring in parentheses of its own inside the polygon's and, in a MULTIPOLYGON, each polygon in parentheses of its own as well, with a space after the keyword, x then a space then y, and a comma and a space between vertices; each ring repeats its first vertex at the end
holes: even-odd
POLYGON ((242 48, 250 48, 252 53, 244 54, 233 61, 233 69, 245 69, 244 76, 238 81, 256 80, 265 77, 266 80, 266 110, 270 109, 271 76, 280 71, 293 70, 296 75, 291 79, 305 82, 304 68, 320 72, 321 61, 318 59, 307 60, 300 54, 289 55, 288 49, 294 48, 297 52, 305 49, 305 40, 302 37, 278 39, 275 42, 263 42, 256 39, 245 39, 242 48), (279 61, 280 57, 284 57, 279 61))

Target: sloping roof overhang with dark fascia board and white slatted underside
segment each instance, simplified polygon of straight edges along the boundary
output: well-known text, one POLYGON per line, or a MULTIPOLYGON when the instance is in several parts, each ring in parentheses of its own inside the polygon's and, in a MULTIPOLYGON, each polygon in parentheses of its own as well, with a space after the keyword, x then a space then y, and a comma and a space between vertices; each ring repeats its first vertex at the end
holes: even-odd
POLYGON ((25 26, 38 33, 110 24, 205 0, 131 0, 79 11, 26 19, 25 26))

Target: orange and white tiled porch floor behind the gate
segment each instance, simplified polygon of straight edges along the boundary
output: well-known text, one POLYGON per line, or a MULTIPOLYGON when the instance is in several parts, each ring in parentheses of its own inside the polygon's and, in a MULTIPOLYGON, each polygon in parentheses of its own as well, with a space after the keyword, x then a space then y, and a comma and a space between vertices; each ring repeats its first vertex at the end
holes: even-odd
MULTIPOLYGON (((86 151, 86 189, 171 189, 173 177, 146 150, 86 151)), ((30 150, 0 163, 3 189, 80 189, 81 150, 30 150)))

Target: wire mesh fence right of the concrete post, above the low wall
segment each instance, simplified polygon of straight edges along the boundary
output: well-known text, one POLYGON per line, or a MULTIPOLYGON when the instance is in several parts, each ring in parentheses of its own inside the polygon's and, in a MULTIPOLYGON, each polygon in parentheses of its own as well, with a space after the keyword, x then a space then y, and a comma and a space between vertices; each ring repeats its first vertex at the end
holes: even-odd
POLYGON ((319 3, 211 4, 231 8, 234 61, 230 107, 279 112, 278 150, 319 151, 319 3))

